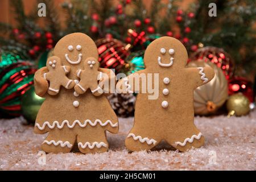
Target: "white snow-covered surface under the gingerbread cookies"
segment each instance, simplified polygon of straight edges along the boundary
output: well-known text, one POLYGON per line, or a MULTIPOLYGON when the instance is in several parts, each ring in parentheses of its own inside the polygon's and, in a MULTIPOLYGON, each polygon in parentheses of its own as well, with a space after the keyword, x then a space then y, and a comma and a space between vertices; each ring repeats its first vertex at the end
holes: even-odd
POLYGON ((108 152, 44 155, 40 144, 46 134, 34 134, 23 122, 0 119, 1 170, 256 170, 256 111, 245 117, 196 117, 205 144, 187 152, 162 142, 153 151, 130 153, 124 140, 133 118, 119 118, 119 133, 108 134, 108 152))

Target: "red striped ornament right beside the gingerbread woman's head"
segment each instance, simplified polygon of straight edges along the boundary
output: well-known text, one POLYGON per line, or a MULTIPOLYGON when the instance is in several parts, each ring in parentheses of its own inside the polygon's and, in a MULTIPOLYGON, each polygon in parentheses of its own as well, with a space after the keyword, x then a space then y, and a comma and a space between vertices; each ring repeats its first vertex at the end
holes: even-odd
POLYGON ((101 68, 114 68, 120 71, 125 64, 125 58, 130 54, 129 49, 124 43, 117 39, 96 40, 101 68))

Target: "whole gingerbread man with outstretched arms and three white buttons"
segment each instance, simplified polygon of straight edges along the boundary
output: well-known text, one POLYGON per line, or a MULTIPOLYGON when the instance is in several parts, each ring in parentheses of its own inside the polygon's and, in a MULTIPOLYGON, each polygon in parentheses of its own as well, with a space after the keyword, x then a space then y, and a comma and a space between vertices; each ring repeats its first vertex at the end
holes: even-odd
POLYGON ((210 67, 185 68, 187 59, 187 51, 179 40, 156 39, 144 54, 146 69, 117 83, 117 89, 123 93, 138 91, 134 126, 125 141, 129 150, 150 150, 161 140, 180 151, 203 145, 204 137, 194 124, 193 90, 212 80, 214 71, 210 67), (147 78, 148 73, 159 77, 150 83, 158 86, 155 99, 150 99, 150 93, 141 92, 142 81, 135 82, 136 74, 147 78))

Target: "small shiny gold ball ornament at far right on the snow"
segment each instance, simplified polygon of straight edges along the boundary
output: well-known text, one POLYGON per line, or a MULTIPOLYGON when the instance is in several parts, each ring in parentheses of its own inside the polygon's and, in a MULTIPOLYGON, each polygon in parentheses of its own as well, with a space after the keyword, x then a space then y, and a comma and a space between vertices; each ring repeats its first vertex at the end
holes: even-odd
POLYGON ((250 101, 242 93, 233 94, 228 98, 226 108, 229 111, 228 118, 232 115, 246 115, 250 111, 250 101))

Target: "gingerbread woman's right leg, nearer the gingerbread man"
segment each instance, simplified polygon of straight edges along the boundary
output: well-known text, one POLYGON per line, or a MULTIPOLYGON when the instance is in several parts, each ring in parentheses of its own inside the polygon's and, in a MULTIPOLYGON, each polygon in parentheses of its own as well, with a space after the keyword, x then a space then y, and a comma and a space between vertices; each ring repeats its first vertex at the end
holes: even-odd
POLYGON ((85 128, 79 129, 77 144, 79 150, 84 154, 106 152, 109 148, 105 129, 100 125, 86 126, 85 128))

